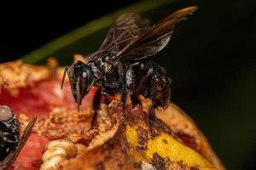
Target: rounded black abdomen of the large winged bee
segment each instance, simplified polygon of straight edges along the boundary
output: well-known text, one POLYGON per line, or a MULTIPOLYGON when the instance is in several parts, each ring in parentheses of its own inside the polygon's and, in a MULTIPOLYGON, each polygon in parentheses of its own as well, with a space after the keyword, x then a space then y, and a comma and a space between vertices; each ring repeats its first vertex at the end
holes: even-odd
POLYGON ((132 98, 139 94, 152 100, 154 106, 166 107, 171 100, 171 78, 164 68, 152 60, 132 65, 125 72, 126 87, 132 98))

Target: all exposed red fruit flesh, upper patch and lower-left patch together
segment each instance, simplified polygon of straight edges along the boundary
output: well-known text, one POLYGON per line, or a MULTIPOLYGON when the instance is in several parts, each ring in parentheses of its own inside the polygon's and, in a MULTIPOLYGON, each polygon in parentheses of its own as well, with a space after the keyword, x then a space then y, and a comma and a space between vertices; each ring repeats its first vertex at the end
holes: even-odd
MULTIPOLYGON (((84 97, 80 110, 91 107, 91 99, 95 92, 96 88, 91 88, 90 93, 84 97)), ((77 108, 69 83, 66 82, 64 89, 61 90, 61 82, 56 80, 44 80, 36 82, 34 87, 20 88, 17 97, 9 94, 6 89, 2 89, 0 105, 8 105, 17 114, 25 113, 26 116, 38 116, 39 118, 47 116, 49 111, 55 107, 77 108)), ((47 141, 48 139, 44 136, 33 133, 12 168, 38 169, 38 160, 41 159, 44 144, 47 141)))

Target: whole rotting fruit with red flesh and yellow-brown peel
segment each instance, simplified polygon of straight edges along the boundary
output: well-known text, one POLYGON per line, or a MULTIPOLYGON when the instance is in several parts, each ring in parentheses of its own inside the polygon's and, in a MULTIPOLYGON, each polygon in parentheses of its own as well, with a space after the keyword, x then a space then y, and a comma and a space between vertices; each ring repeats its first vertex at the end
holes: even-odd
POLYGON ((142 96, 143 107, 131 109, 128 103, 127 122, 121 116, 119 96, 112 96, 110 105, 100 106, 96 129, 89 130, 91 96, 96 88, 90 90, 78 112, 68 82, 61 91, 62 72, 61 67, 27 65, 20 60, 0 65, 1 80, 9 84, 1 89, 0 105, 9 105, 18 114, 21 128, 29 117, 39 117, 13 165, 16 169, 39 169, 45 144, 60 139, 83 148, 79 155, 64 156, 56 166, 61 169, 224 169, 195 123, 173 104, 165 111, 156 109, 161 121, 154 124, 154 137, 144 120, 150 100, 142 96))

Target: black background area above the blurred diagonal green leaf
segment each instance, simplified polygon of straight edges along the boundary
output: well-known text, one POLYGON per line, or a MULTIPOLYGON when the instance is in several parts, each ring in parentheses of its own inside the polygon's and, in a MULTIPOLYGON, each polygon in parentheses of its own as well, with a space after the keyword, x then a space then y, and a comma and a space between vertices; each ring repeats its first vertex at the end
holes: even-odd
POLYGON ((134 2, 4 4, 1 7, 0 61, 18 59, 67 31, 134 2))

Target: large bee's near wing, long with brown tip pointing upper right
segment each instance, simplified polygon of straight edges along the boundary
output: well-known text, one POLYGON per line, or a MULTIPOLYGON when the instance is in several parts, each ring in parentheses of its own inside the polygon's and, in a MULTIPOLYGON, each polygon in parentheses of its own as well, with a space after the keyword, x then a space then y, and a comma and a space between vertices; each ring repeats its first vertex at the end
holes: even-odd
POLYGON ((182 20, 186 20, 186 16, 195 12, 196 9, 197 7, 183 8, 160 20, 159 23, 152 26, 141 36, 129 42, 125 48, 119 51, 116 59, 122 61, 137 60, 157 54, 161 49, 166 47, 172 36, 174 27, 182 20))

